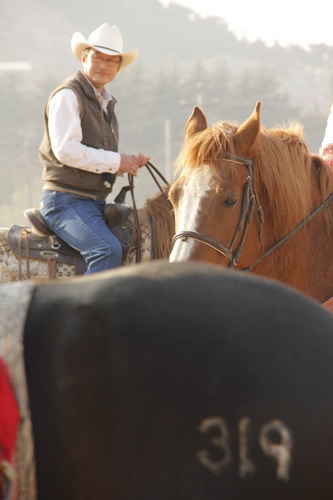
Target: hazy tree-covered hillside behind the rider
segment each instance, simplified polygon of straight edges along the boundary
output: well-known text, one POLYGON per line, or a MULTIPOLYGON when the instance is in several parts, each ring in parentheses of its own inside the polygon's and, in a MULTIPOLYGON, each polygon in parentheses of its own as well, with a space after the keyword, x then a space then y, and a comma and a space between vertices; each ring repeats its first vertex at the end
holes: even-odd
MULTIPOLYGON (((95 0, 89 10, 78 0, 1 2, 1 225, 38 203, 45 101, 80 68, 72 34, 88 36, 103 22, 120 27, 125 50, 139 49, 137 62, 112 83, 122 151, 146 152, 170 172, 195 104, 202 103, 209 122, 242 121, 257 100, 266 127, 298 120, 310 150, 318 151, 333 102, 332 47, 249 43, 223 19, 201 18, 174 3, 165 8, 159 0, 95 0), (6 62, 22 61, 32 70, 6 70, 6 62)), ((139 187, 139 202, 148 194, 139 187)))

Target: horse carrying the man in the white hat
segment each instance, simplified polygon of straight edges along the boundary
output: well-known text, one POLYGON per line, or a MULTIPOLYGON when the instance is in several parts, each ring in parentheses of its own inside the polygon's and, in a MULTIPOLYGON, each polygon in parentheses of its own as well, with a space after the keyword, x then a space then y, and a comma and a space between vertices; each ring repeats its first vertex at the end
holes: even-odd
MULTIPOLYGON (((137 217, 134 216, 133 211, 129 211, 128 217, 121 225, 125 231, 130 231, 132 234, 123 262, 124 265, 135 264, 138 257, 140 262, 168 258, 172 249, 172 236, 175 233, 172 205, 168 200, 168 187, 166 186, 162 192, 154 197, 148 198, 145 206, 137 210, 137 217), (140 241, 139 255, 138 241, 140 241)), ((12 249, 8 239, 9 229, 0 228, 0 283, 29 278, 68 278, 74 274, 82 274, 84 270, 82 265, 79 272, 76 269, 77 259, 80 258, 79 254, 77 254, 76 260, 73 256, 68 262, 68 260, 62 260, 60 252, 53 275, 51 275, 50 265, 46 259, 36 258, 32 252, 28 256, 22 256, 20 252, 12 249)), ((27 229, 31 232, 30 228, 27 229)), ((48 239, 49 236, 44 237, 43 241, 45 238, 48 239)), ((41 245, 39 240, 35 243, 35 247, 38 245, 41 245)), ((42 254, 43 251, 38 253, 42 254)))

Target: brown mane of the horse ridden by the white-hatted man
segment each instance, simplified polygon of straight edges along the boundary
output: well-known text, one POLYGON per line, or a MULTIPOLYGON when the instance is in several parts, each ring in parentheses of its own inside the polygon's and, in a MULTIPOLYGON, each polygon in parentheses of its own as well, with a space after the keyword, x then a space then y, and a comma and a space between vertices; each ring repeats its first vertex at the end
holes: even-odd
POLYGON ((155 259, 168 258, 172 250, 175 219, 168 192, 169 187, 153 198, 148 198, 145 204, 145 210, 151 218, 155 259))

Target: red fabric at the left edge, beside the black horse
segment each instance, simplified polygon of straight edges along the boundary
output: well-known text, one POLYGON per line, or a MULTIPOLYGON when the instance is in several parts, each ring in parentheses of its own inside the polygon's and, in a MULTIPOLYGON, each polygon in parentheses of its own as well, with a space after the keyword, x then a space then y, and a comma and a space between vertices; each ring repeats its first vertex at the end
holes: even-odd
MULTIPOLYGON (((13 465, 20 413, 5 361, 0 358, 0 464, 13 465)), ((0 491, 2 473, 0 474, 0 491)))

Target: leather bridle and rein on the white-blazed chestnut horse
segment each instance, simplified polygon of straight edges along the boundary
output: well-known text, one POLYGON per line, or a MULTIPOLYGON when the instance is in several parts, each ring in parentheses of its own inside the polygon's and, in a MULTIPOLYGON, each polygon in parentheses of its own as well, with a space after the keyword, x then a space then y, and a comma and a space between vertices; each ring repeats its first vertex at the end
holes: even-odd
MULTIPOLYGON (((203 243, 220 254, 224 255, 228 259, 228 267, 235 267, 237 266, 237 263, 240 259, 241 252, 244 248, 244 243, 245 243, 245 238, 247 235, 248 227, 249 224, 251 223, 252 220, 252 214, 253 214, 253 209, 254 205, 257 205, 257 210, 258 210, 258 216, 259 216, 259 228, 258 228, 258 233, 259 233, 259 241, 261 241, 262 237, 262 226, 264 224, 264 214, 262 211, 262 208, 259 203, 259 199, 256 193, 255 185, 253 182, 253 165, 252 165, 252 160, 247 159, 247 158, 242 158, 238 155, 233 156, 232 158, 228 158, 229 156, 232 155, 224 155, 223 160, 224 161, 231 161, 231 162, 236 162, 240 163, 242 165, 245 165, 248 171, 248 177, 246 179, 246 182, 244 184, 244 189, 243 189, 243 199, 242 199, 242 208, 241 208, 241 213, 239 217, 239 221, 235 230, 234 237, 232 239, 232 242, 229 247, 226 247, 222 245, 221 243, 217 242, 216 240, 210 238, 209 236, 206 236, 202 233, 198 233, 196 231, 180 231, 176 233, 173 237, 173 244, 178 240, 181 239, 182 241, 186 241, 188 238, 192 238, 194 240, 199 241, 200 243, 203 243), (237 248, 234 248, 236 241, 238 239, 238 236, 241 234, 241 239, 240 242, 237 246, 237 248)), ((303 219, 297 226, 295 226, 294 229, 292 229, 288 234, 286 234, 281 240, 279 240, 277 243, 275 243, 271 248, 266 250, 258 259, 251 264, 250 266, 244 267, 241 270, 242 271, 252 271, 254 267, 256 267, 262 260, 264 260, 268 255, 270 255, 272 252, 280 248, 286 241, 288 241, 290 238, 292 238, 298 231, 300 231, 306 224, 311 222, 320 212, 322 212, 328 205, 333 201, 333 193, 331 193, 313 212, 310 213, 308 217, 303 219)))

